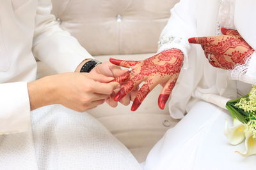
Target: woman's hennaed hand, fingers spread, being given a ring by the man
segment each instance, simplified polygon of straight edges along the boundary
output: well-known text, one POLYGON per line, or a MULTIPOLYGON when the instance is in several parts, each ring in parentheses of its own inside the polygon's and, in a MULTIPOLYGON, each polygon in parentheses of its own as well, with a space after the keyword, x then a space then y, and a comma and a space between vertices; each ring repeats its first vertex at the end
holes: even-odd
POLYGON ((153 57, 141 61, 110 59, 110 62, 117 66, 132 69, 113 80, 118 82, 128 80, 116 94, 115 101, 120 101, 129 92, 136 89, 142 81, 145 81, 136 94, 131 110, 137 110, 148 93, 158 84, 164 85, 158 98, 159 108, 164 109, 165 103, 179 76, 183 59, 183 53, 175 48, 164 50, 153 57))

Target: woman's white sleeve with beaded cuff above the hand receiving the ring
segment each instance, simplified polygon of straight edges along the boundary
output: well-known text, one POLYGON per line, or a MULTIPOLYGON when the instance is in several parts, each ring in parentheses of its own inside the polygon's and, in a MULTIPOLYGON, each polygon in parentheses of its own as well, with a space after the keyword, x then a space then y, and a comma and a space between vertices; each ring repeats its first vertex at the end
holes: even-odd
POLYGON ((188 38, 196 36, 195 1, 181 0, 171 10, 171 17, 159 40, 159 52, 178 48, 184 54, 183 67, 188 67, 188 38))

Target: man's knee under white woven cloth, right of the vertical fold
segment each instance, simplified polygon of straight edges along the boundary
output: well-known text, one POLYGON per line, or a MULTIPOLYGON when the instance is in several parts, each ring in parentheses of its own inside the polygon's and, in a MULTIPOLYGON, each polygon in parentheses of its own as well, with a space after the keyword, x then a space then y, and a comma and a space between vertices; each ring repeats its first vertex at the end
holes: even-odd
POLYGON ((141 169, 131 152, 88 113, 53 105, 31 116, 38 169, 141 169))

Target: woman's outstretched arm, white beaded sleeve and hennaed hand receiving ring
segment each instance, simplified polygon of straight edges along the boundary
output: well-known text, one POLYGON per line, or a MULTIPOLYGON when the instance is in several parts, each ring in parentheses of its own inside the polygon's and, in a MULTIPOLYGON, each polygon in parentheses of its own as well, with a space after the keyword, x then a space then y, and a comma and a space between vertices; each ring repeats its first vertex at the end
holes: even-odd
MULTIPOLYGON (((119 101, 132 89, 137 88, 142 81, 145 81, 134 99, 132 111, 138 109, 147 94, 158 84, 164 87, 158 98, 159 108, 163 109, 175 86, 182 63, 183 66, 188 67, 190 49, 188 38, 195 36, 196 32, 195 1, 181 0, 171 10, 171 13, 172 17, 161 34, 157 55, 143 61, 111 59, 113 64, 132 68, 128 75, 130 80, 122 85, 115 96, 115 101, 119 101)), ((120 80, 125 80, 125 76, 120 77, 120 80)))

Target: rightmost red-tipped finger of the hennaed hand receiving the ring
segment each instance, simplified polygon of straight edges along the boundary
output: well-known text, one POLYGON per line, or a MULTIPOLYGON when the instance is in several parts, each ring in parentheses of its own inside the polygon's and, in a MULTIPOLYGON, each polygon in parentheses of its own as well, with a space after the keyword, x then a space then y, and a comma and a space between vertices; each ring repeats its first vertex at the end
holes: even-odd
POLYGON ((164 106, 166 104, 166 101, 168 101, 170 94, 172 92, 173 87, 175 86, 177 79, 175 80, 169 80, 166 85, 164 86, 161 94, 158 97, 158 106, 161 108, 161 110, 164 109, 164 106))

